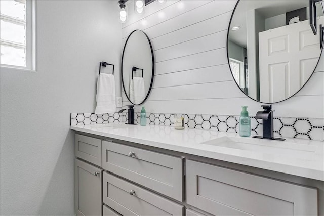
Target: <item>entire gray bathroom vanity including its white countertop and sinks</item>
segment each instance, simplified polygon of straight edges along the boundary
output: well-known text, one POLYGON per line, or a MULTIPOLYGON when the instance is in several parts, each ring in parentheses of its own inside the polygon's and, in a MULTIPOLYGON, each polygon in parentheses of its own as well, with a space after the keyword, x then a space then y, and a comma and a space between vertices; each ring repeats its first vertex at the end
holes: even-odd
POLYGON ((124 123, 71 129, 77 215, 324 214, 322 142, 124 123))

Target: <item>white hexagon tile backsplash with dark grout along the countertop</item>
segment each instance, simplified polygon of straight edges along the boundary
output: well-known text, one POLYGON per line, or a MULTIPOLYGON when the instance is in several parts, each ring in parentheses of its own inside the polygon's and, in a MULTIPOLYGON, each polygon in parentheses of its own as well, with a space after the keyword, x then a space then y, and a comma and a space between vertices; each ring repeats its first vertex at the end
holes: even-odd
MULTIPOLYGON (((174 114, 146 113, 147 124, 173 126, 174 114)), ((251 135, 262 134, 262 120, 251 118, 251 135)), ((71 125, 126 122, 126 113, 71 113, 71 125)), ((135 113, 140 122, 140 113, 135 113)), ((239 116, 185 114, 185 125, 193 129, 238 133, 239 116)), ((324 141, 324 118, 274 118, 274 136, 324 141)))

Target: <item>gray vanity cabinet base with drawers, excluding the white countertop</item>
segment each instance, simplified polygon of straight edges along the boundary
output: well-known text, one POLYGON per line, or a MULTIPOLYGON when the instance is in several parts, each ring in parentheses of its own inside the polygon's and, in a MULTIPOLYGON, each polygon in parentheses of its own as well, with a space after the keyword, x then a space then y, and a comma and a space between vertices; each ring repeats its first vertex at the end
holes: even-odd
POLYGON ((75 136, 77 215, 318 215, 321 187, 103 139, 75 136))

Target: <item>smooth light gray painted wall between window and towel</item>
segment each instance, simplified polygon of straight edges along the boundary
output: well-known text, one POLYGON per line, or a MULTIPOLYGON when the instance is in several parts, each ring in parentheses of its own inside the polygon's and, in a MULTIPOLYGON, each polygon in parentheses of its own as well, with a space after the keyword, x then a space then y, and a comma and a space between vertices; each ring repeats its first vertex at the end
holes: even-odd
POLYGON ((116 1, 36 1, 37 70, 1 68, 1 215, 74 215, 70 113, 94 112, 99 61, 116 65, 116 1))

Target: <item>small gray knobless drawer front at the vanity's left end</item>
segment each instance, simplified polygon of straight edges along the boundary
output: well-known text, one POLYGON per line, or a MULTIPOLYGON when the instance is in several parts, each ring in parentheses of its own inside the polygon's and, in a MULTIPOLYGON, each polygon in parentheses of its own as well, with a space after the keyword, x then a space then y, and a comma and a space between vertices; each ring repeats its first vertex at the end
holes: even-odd
POLYGON ((75 135, 75 156, 101 167, 101 140, 84 135, 75 135))

